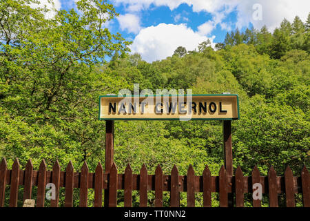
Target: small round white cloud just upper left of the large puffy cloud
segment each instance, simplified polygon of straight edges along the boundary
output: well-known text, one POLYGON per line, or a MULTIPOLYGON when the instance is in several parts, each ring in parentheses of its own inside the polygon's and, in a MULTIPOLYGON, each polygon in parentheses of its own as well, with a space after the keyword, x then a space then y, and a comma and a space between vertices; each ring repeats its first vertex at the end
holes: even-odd
POLYGON ((141 30, 140 19, 136 15, 119 15, 117 20, 121 30, 127 30, 127 32, 132 32, 134 34, 137 34, 138 31, 141 30))

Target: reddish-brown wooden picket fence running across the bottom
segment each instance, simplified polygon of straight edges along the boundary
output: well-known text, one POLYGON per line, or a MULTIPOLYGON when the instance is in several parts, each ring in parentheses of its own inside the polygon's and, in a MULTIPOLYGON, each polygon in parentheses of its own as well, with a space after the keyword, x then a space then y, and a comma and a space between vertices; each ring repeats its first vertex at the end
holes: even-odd
MULTIPOLYGON (((59 206, 59 189, 65 187, 65 206, 73 206, 74 188, 79 188, 79 206, 87 206, 87 191, 94 189, 94 206, 100 207, 103 202, 103 190, 105 190, 105 206, 116 206, 117 190, 124 190, 124 206, 132 206, 132 191, 138 190, 140 206, 147 206, 147 191, 155 191, 154 206, 163 206, 163 191, 170 192, 170 206, 180 206, 180 192, 187 192, 187 206, 195 206, 195 193, 203 193, 203 206, 211 207, 211 193, 219 193, 221 207, 229 205, 229 194, 234 193, 234 206, 244 206, 244 194, 253 193, 254 183, 262 185, 262 193, 269 196, 269 206, 278 207, 278 194, 285 193, 287 207, 296 206, 295 193, 302 193, 304 207, 310 207, 310 176, 304 166, 300 177, 293 176, 289 167, 285 170, 284 177, 276 175, 276 171, 269 169, 268 176, 260 176, 255 166, 251 176, 244 176, 240 167, 236 175, 227 176, 224 166, 221 167, 218 176, 211 176, 208 166, 205 166, 203 175, 196 176, 192 166, 189 166, 187 175, 179 175, 176 166, 171 175, 163 175, 161 166, 157 166, 155 175, 149 175, 145 165, 140 174, 132 174, 128 164, 124 174, 118 174, 116 165, 113 164, 110 173, 103 173, 103 167, 99 162, 95 173, 89 173, 86 163, 81 172, 74 172, 70 162, 65 171, 61 171, 56 162, 52 171, 47 170, 44 160, 39 166, 39 171, 34 171, 31 160, 20 169, 19 160, 16 159, 9 170, 6 159, 0 164, 0 206, 4 206, 6 185, 10 185, 9 206, 16 207, 18 201, 19 186, 23 185, 23 200, 32 198, 32 186, 37 186, 37 207, 43 207, 45 202, 45 186, 53 183, 56 186, 56 199, 51 200, 50 206, 59 206)), ((261 206, 261 200, 253 200, 254 207, 261 206)))

